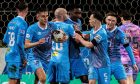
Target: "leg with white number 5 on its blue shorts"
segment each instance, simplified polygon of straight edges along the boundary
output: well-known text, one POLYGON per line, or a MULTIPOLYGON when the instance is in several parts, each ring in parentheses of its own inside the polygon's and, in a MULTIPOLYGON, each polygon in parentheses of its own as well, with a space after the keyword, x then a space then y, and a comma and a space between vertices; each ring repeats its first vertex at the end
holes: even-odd
POLYGON ((111 69, 110 66, 98 68, 98 84, 110 84, 111 69))

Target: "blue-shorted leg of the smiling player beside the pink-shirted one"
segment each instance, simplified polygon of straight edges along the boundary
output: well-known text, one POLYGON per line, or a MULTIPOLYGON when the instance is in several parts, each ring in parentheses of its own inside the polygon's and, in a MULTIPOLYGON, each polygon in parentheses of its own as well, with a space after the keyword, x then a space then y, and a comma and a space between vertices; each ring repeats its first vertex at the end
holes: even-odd
MULTIPOLYGON (((114 77, 116 78, 116 80, 118 80, 118 82, 120 84, 127 84, 126 81, 126 73, 125 73, 125 69, 122 65, 121 62, 114 62, 111 64, 111 68, 113 68, 113 74, 114 77)), ((112 70, 112 69, 111 69, 112 70)))

